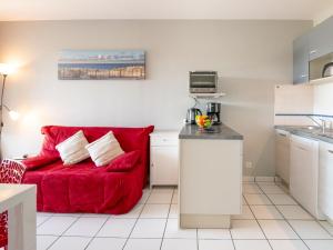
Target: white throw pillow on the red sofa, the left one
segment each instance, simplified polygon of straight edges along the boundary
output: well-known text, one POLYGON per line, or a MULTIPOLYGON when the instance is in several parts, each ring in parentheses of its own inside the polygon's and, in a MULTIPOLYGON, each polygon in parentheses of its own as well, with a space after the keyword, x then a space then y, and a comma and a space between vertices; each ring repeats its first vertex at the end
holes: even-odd
POLYGON ((85 149, 88 140, 82 130, 78 131, 70 138, 56 146, 59 151, 63 164, 74 164, 89 158, 85 149))

